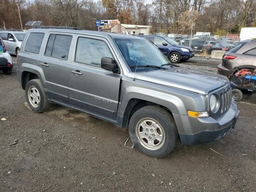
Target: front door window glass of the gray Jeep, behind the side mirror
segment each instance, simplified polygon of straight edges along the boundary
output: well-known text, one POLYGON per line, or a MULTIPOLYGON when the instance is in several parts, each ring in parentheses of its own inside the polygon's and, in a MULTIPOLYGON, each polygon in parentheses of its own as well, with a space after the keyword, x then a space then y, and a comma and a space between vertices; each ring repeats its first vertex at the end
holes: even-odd
POLYGON ((75 61, 100 67, 102 57, 113 58, 108 45, 104 41, 78 38, 75 61))

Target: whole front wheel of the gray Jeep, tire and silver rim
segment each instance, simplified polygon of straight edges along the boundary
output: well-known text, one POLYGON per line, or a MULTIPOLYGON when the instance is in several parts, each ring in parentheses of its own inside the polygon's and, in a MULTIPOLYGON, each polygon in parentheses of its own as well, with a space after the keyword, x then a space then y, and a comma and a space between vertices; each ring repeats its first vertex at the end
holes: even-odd
POLYGON ((129 134, 136 149, 156 158, 170 154, 178 142, 174 118, 158 106, 137 110, 130 119, 129 134))

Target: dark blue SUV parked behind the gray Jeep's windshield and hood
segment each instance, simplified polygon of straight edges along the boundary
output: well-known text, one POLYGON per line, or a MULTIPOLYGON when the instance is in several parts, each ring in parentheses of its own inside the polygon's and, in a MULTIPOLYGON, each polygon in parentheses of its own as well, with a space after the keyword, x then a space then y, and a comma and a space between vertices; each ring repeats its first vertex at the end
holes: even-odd
POLYGON ((194 56, 194 51, 188 46, 179 45, 178 42, 163 36, 143 36, 152 41, 158 49, 170 60, 172 63, 188 60, 194 56))

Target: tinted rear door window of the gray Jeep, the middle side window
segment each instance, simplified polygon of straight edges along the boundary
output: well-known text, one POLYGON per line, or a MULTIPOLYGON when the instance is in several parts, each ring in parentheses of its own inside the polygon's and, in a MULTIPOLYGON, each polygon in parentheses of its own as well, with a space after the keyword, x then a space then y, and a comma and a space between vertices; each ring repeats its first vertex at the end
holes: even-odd
POLYGON ((68 59, 72 36, 51 34, 45 50, 45 55, 68 59))

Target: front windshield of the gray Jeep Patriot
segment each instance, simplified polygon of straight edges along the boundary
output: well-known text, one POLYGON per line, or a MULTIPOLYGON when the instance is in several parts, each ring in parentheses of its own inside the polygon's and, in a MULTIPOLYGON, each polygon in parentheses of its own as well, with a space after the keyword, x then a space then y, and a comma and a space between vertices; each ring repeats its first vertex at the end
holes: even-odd
MULTIPOLYGON (((132 38, 114 38, 119 50, 121 51, 126 63, 131 71, 135 71, 137 64, 137 72, 145 70, 156 70, 155 68, 140 67, 145 65, 161 66, 169 63, 169 60, 160 52, 155 45, 148 40, 132 39, 132 38)), ((165 66, 168 68, 168 66, 165 66)))

